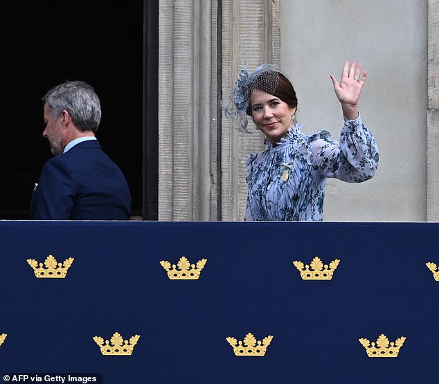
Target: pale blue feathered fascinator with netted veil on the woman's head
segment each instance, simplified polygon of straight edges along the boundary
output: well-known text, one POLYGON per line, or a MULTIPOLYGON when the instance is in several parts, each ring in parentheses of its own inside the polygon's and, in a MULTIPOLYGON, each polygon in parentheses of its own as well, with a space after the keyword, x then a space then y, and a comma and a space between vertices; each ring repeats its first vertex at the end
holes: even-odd
POLYGON ((251 116, 251 91, 259 89, 273 94, 279 84, 279 73, 283 72, 273 64, 262 64, 251 73, 247 64, 241 66, 238 80, 230 93, 229 102, 227 104, 224 100, 221 102, 224 116, 236 118, 238 129, 250 133, 247 125, 249 124, 248 118, 251 116))

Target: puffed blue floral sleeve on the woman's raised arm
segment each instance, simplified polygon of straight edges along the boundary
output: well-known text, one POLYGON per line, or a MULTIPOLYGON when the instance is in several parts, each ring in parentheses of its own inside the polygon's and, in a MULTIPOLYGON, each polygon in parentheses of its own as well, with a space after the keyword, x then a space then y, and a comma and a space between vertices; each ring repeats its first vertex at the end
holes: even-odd
POLYGON ((361 116, 344 120, 340 143, 332 140, 328 131, 319 131, 310 137, 312 165, 321 176, 348 183, 372 179, 379 157, 375 138, 361 122, 361 116))

